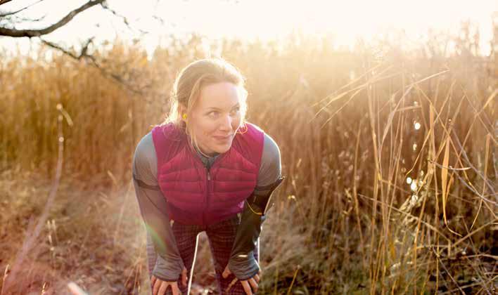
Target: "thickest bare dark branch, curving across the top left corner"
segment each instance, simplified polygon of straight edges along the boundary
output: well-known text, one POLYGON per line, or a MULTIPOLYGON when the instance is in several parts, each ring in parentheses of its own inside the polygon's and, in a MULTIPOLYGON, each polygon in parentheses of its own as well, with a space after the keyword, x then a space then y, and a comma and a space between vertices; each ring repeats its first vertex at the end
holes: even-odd
MULTIPOLYGON (((2 0, 0 0, 2 1, 2 0)), ((10 0, 3 0, 3 1, 10 1, 10 0)), ((0 27, 0 36, 8 36, 8 37, 40 37, 41 35, 44 34, 49 34, 59 27, 62 27, 63 25, 67 24, 74 18, 78 13, 81 13, 82 11, 86 11, 88 8, 91 8, 93 6, 96 6, 98 4, 102 4, 105 0, 94 0, 94 1, 88 1, 86 4, 83 4, 79 8, 75 9, 74 11, 71 11, 67 15, 65 15, 64 18, 56 22, 55 24, 46 27, 44 29, 9 29, 6 27, 0 27)), ((1 2, 0 2, 1 4, 1 2)))

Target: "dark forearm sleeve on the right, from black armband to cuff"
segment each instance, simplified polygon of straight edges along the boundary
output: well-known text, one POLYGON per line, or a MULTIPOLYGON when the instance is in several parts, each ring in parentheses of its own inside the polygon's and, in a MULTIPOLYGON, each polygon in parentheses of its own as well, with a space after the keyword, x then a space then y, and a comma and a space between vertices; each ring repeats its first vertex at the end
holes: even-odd
POLYGON ((272 206, 269 202, 272 192, 285 177, 265 187, 258 188, 244 202, 241 223, 237 227, 234 246, 231 249, 228 267, 238 280, 248 280, 260 270, 254 251, 257 238, 260 237, 261 225, 266 219, 266 213, 272 206), (258 194, 263 192, 262 195, 258 194))

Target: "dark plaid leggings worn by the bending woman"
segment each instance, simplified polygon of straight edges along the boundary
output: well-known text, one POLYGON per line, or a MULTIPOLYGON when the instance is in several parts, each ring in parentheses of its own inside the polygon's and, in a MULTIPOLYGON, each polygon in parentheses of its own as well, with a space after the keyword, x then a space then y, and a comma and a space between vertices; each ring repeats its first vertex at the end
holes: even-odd
MULTIPOLYGON (((200 232, 206 232, 210 244, 211 254, 215 261, 215 273, 218 284, 217 294, 245 294, 241 282, 236 282, 236 284, 233 284, 229 291, 226 292, 226 288, 229 286, 231 281, 234 280, 235 276, 231 274, 226 277, 226 279, 222 277, 223 270, 229 261, 231 247, 234 244, 238 223, 238 216, 234 215, 224 221, 219 221, 218 223, 208 226, 184 225, 176 221, 172 225, 174 238, 177 240, 177 247, 181 258, 184 261, 185 268, 187 269, 187 275, 190 275, 192 268, 193 256, 196 251, 196 237, 200 232)), ((157 254, 155 254, 151 237, 147 236, 148 269, 150 274, 152 273, 155 265, 156 255, 157 254)), ((257 251, 255 251, 255 258, 258 259, 257 251)), ((187 294, 187 287, 184 287, 184 285, 181 284, 181 276, 178 280, 178 287, 181 294, 187 294)), ((168 287, 166 294, 172 294, 171 287, 168 287)))

